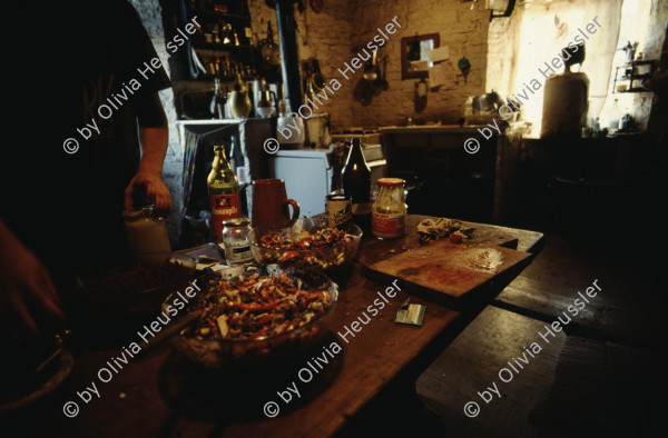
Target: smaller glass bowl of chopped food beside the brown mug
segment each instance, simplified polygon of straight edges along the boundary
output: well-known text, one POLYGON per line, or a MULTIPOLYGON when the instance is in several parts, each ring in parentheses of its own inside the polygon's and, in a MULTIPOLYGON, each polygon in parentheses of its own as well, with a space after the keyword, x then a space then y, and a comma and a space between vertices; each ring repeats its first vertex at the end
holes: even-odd
POLYGON ((324 219, 297 219, 292 227, 253 229, 250 250, 258 263, 302 266, 331 273, 350 265, 357 253, 362 230, 354 223, 327 227, 324 219))

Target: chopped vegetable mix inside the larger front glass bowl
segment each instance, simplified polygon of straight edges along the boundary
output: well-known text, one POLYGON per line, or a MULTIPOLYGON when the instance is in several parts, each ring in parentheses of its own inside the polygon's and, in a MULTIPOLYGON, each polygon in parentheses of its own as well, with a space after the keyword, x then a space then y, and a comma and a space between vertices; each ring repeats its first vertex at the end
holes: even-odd
POLYGON ((215 278, 197 303, 195 326, 181 335, 198 339, 266 339, 305 326, 325 313, 332 298, 325 290, 306 290, 285 271, 278 276, 245 273, 232 280, 215 278))

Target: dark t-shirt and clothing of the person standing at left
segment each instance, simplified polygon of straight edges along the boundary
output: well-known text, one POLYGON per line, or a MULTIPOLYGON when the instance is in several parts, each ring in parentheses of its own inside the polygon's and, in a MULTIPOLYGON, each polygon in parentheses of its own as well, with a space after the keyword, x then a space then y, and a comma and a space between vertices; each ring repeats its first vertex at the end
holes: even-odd
POLYGON ((72 14, 43 32, 61 52, 41 90, 50 110, 20 145, 1 212, 51 271, 69 273, 126 257, 121 212, 139 159, 138 106, 170 82, 151 66, 156 51, 127 1, 59 4, 72 14), (63 150, 68 139, 76 153, 63 150))

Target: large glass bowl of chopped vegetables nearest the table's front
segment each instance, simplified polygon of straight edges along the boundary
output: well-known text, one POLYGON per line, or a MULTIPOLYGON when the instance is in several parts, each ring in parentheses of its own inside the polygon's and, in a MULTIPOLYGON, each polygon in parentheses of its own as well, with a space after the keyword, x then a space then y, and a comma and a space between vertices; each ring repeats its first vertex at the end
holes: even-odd
POLYGON ((185 318, 191 322, 174 337, 174 347, 212 369, 291 358, 328 332, 337 299, 336 285, 313 269, 273 265, 210 272, 188 305, 185 318))

